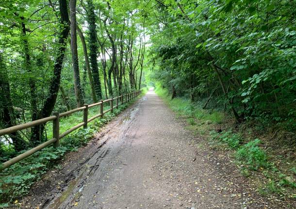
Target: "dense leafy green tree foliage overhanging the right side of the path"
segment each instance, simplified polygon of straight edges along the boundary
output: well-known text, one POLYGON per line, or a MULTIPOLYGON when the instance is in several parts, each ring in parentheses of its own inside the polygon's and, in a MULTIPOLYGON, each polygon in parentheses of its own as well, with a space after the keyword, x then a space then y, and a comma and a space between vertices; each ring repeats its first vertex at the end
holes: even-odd
POLYGON ((150 78, 195 101, 214 92, 217 105, 241 120, 294 132, 295 1, 179 3, 165 1, 159 12, 164 27, 153 28, 150 56, 157 67, 150 78))

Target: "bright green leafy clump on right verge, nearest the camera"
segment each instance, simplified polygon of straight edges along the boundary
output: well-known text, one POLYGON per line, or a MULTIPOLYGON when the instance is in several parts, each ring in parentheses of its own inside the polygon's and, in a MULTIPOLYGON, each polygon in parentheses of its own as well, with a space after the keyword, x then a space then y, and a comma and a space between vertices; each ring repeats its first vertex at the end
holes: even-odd
POLYGON ((236 152, 236 159, 245 162, 252 169, 267 168, 267 155, 259 146, 260 143, 259 139, 255 139, 242 145, 236 152))

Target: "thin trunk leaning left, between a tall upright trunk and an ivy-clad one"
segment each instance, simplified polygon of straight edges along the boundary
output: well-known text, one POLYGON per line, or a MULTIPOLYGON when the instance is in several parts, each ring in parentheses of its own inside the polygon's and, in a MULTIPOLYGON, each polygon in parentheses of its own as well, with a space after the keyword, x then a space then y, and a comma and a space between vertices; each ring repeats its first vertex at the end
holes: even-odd
POLYGON ((93 75, 90 69, 90 64, 89 64, 89 59, 88 59, 88 53, 87 53, 87 48, 86 48, 86 43, 85 43, 85 38, 83 36, 83 33, 81 31, 81 29, 77 26, 77 32, 78 35, 81 39, 81 43, 82 43, 82 48, 83 48, 83 54, 84 54, 84 62, 85 62, 85 66, 86 66, 86 70, 87 70, 87 75, 88 75, 88 79, 89 79, 89 85, 91 88, 91 95, 92 95, 92 99, 93 102, 97 102, 97 96, 96 96, 96 90, 95 90, 95 84, 94 84, 94 80, 93 80, 93 75))

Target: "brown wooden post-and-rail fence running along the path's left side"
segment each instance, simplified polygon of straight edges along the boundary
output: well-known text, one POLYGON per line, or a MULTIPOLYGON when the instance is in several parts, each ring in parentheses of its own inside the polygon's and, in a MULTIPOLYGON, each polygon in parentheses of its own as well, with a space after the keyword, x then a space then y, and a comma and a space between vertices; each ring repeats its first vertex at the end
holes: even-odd
POLYGON ((84 104, 83 107, 76 108, 74 110, 70 110, 70 111, 67 111, 65 113, 53 113, 52 116, 49 116, 49 117, 46 117, 46 118, 42 118, 42 119, 39 119, 39 120, 31 121, 29 123, 9 127, 7 129, 0 129, 0 136, 3 136, 5 134, 14 133, 14 132, 16 132, 18 130, 28 129, 28 128, 31 128, 33 126, 41 125, 41 124, 44 124, 46 122, 52 121, 52 137, 53 137, 52 139, 46 141, 45 143, 43 143, 41 145, 38 145, 38 146, 34 147, 33 149, 30 149, 30 150, 16 156, 15 158, 10 159, 9 161, 6 161, 6 162, 2 163, 0 165, 0 171, 4 170, 5 168, 8 168, 9 166, 15 164, 18 161, 21 161, 21 160, 27 158, 30 155, 33 155, 35 152, 40 151, 41 149, 43 149, 46 146, 49 146, 51 144, 53 144, 54 147, 59 146, 60 139, 65 137, 67 134, 71 133, 72 131, 74 131, 74 130, 82 127, 82 126, 83 126, 83 128, 87 128, 87 124, 89 122, 93 121, 94 119, 96 119, 98 117, 103 117, 105 113, 108 113, 110 111, 111 111, 111 113, 113 113, 113 109, 118 108, 119 102, 121 102, 121 104, 123 104, 125 102, 128 102, 132 98, 135 98, 136 96, 138 96, 140 93, 141 93, 141 90, 140 91, 134 91, 132 93, 117 96, 115 98, 110 98, 110 99, 107 99, 107 100, 100 100, 100 102, 94 103, 94 104, 91 104, 91 105, 84 104), (113 103, 114 101, 116 102, 115 106, 114 106, 114 103, 113 103), (110 109, 104 111, 104 103, 106 103, 106 102, 110 102, 110 109), (88 118, 88 109, 92 108, 92 107, 95 107, 95 106, 100 106, 99 114, 97 114, 97 115, 95 115, 95 116, 93 116, 91 118, 88 118), (71 129, 66 130, 64 133, 60 134, 60 122, 59 122, 60 120, 59 119, 61 117, 71 115, 71 114, 76 113, 78 111, 83 111, 83 122, 77 124, 76 126, 72 127, 71 129))

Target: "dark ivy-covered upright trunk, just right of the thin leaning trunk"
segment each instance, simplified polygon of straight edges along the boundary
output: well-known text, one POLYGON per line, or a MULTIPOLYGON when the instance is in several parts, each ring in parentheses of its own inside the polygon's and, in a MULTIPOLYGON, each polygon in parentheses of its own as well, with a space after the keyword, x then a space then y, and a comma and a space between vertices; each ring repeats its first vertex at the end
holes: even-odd
POLYGON ((97 42, 97 31, 96 31, 96 15, 94 12, 94 5, 92 0, 87 0, 86 19, 89 25, 88 48, 89 48, 90 64, 91 64, 92 74, 94 78, 96 95, 99 99, 101 99, 102 90, 101 90, 101 81, 99 78, 99 67, 98 67, 98 61, 97 61, 98 42, 97 42))

